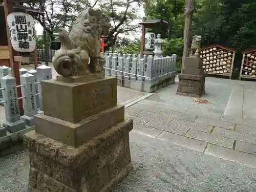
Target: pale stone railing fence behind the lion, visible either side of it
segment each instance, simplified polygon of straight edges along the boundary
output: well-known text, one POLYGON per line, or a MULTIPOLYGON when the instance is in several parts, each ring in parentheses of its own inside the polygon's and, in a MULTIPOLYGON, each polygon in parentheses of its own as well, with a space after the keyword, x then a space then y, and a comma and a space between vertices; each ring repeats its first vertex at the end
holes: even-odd
MULTIPOLYGON (((38 61, 52 60, 56 50, 37 50, 38 61), (45 52, 47 51, 47 54, 45 52), (47 56, 47 58, 45 58, 47 56)), ((106 59, 105 74, 116 76, 118 85, 144 92, 153 92, 175 82, 177 55, 101 53, 106 59)))

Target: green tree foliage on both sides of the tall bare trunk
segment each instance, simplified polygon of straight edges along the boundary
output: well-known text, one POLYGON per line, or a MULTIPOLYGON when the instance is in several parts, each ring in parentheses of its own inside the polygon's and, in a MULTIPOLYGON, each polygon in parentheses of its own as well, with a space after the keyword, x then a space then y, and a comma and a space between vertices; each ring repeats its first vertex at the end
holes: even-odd
MULTIPOLYGON (((144 5, 148 18, 170 18, 165 54, 173 51, 182 54, 179 42, 183 36, 184 5, 185 0, 148 0, 144 5)), ((254 0, 197 0, 190 38, 202 35, 202 47, 220 44, 237 51, 253 49, 256 47, 255 10, 254 0)))

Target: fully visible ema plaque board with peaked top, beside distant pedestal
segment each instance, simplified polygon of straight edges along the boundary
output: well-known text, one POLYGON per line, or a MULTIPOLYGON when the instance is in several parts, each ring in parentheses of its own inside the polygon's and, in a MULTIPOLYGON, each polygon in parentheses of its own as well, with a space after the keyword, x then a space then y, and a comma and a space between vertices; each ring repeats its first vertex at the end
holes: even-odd
POLYGON ((229 76, 231 79, 234 54, 236 51, 229 48, 213 45, 201 49, 203 68, 206 74, 229 76))

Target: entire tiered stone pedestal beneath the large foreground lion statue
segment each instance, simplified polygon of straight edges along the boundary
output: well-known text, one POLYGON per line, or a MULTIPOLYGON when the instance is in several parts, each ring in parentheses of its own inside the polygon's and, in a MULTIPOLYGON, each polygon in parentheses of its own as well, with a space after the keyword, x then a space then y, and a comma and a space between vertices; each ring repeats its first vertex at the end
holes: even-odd
POLYGON ((117 79, 81 79, 42 82, 44 114, 24 136, 34 191, 109 191, 132 170, 133 120, 117 105, 117 79))

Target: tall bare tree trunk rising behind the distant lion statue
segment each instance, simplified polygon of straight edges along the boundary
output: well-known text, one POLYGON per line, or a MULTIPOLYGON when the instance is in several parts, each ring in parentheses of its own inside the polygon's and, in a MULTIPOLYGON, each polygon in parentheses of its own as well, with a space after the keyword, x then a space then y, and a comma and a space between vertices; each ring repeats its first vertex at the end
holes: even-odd
POLYGON ((189 49, 189 36, 191 32, 191 24, 193 12, 195 10, 195 1, 196 0, 186 0, 186 10, 185 10, 185 24, 183 30, 183 56, 182 56, 182 69, 184 66, 184 62, 186 57, 188 56, 189 49))

